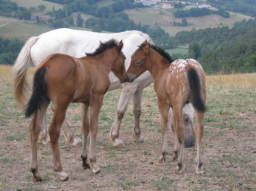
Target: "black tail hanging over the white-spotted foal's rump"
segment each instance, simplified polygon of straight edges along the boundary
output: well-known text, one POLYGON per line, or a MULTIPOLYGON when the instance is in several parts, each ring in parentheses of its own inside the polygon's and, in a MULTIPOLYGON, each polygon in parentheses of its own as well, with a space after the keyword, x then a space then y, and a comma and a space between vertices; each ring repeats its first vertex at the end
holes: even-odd
POLYGON ((197 111, 206 111, 201 97, 201 84, 197 71, 193 68, 188 70, 188 82, 190 87, 190 101, 197 111))

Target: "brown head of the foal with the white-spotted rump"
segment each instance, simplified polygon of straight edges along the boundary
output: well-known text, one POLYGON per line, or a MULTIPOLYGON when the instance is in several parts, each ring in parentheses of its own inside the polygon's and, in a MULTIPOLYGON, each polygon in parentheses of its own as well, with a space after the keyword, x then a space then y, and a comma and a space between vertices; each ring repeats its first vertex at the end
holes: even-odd
POLYGON ((150 47, 150 44, 147 42, 147 40, 145 40, 141 46, 139 46, 139 48, 132 54, 130 67, 126 72, 126 82, 133 82, 133 80, 141 75, 141 73, 147 71, 150 47))

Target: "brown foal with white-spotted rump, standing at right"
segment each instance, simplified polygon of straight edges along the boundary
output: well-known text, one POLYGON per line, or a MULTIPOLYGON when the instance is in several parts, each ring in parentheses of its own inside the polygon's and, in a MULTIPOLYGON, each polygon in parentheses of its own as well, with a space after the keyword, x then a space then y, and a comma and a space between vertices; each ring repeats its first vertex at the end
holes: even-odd
POLYGON ((154 89, 158 97, 158 107, 161 113, 162 154, 160 161, 165 161, 167 154, 167 124, 168 111, 173 109, 172 130, 175 137, 175 156, 177 160, 176 173, 183 167, 184 122, 182 108, 186 103, 192 103, 196 109, 197 122, 195 135, 197 138, 196 173, 203 173, 201 162, 201 138, 203 136, 203 114, 205 112, 206 87, 205 74, 197 60, 175 60, 154 45, 144 41, 132 54, 130 67, 126 72, 128 82, 132 82, 144 71, 150 71, 154 78, 154 89))

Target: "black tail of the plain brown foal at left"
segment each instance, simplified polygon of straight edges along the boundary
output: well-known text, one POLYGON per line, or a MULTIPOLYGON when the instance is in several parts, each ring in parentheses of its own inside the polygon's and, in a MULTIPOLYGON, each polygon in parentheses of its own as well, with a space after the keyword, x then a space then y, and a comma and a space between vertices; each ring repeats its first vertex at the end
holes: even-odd
POLYGON ((25 117, 29 118, 39 109, 47 97, 46 67, 42 67, 35 72, 33 77, 33 92, 24 111, 25 117))

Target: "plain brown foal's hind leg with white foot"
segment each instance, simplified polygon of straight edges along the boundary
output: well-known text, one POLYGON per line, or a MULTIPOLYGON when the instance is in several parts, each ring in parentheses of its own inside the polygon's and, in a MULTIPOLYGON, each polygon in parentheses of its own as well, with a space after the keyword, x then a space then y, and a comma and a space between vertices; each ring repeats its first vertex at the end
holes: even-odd
POLYGON ((49 126, 48 132, 50 135, 51 148, 53 151, 53 164, 54 170, 60 175, 60 179, 63 181, 68 180, 68 174, 62 171, 61 159, 59 156, 59 134, 61 131, 61 125, 66 117, 66 111, 68 108, 68 101, 63 101, 59 104, 55 104, 55 111, 53 114, 53 120, 49 126))

